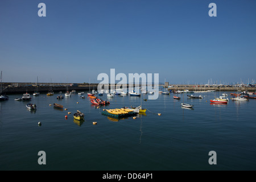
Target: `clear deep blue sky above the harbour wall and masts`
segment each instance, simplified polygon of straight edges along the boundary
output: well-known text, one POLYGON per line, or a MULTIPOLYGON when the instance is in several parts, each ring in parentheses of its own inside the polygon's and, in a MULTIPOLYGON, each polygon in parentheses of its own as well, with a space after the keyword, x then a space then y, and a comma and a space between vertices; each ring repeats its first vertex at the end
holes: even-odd
POLYGON ((4 82, 98 82, 110 68, 160 82, 247 82, 256 79, 255 9, 253 0, 1 0, 0 71, 4 82))

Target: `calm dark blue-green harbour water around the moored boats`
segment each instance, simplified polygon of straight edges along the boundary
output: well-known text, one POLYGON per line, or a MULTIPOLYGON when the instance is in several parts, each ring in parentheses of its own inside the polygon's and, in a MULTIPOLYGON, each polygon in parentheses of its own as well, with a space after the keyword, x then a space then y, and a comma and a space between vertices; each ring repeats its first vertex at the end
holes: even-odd
POLYGON ((100 97, 110 105, 100 109, 86 93, 85 99, 72 94, 56 100, 55 93, 31 96, 31 101, 10 95, 0 102, 0 170, 255 170, 256 100, 212 105, 219 92, 199 94, 204 98, 184 96, 193 110, 181 109, 183 95, 175 94, 181 100, 174 100, 172 93, 147 101, 104 94, 100 97), (26 108, 29 102, 38 106, 35 112, 26 108), (116 121, 101 114, 141 102, 148 110, 137 119, 116 121), (49 106, 53 103, 68 110, 49 106), (76 110, 85 114, 84 122, 74 122, 76 110), (46 152, 46 165, 38 164, 39 151, 46 152), (216 151, 217 165, 208 163, 209 151, 216 151))

